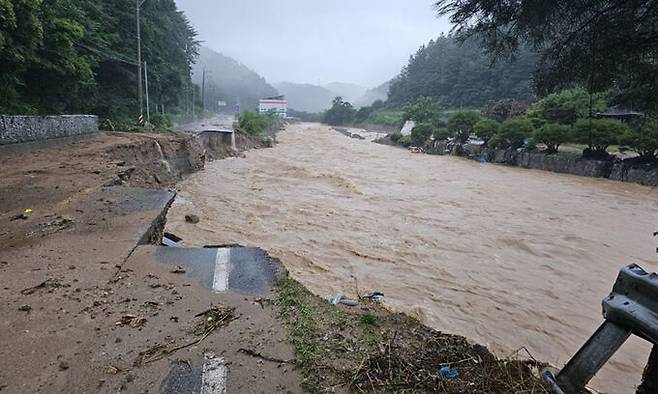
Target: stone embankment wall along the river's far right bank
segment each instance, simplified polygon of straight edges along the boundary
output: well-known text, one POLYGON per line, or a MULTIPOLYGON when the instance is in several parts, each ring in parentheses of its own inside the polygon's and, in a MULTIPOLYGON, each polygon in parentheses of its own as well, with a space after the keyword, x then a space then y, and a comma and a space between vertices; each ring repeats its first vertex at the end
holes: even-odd
MULTIPOLYGON (((594 178, 607 178, 621 182, 658 186, 658 165, 638 164, 631 161, 584 160, 570 155, 547 155, 537 152, 489 150, 487 161, 522 168, 559 172, 594 178)), ((481 160, 482 156, 471 158, 481 160)))

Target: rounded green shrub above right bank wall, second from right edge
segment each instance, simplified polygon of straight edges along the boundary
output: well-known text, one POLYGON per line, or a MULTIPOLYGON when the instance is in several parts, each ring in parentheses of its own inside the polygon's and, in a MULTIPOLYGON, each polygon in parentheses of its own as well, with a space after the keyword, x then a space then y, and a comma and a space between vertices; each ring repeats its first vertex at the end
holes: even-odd
POLYGON ((614 119, 578 119, 574 130, 574 141, 587 144, 584 155, 591 153, 596 157, 607 156, 608 147, 619 143, 622 135, 629 131, 628 126, 614 119))

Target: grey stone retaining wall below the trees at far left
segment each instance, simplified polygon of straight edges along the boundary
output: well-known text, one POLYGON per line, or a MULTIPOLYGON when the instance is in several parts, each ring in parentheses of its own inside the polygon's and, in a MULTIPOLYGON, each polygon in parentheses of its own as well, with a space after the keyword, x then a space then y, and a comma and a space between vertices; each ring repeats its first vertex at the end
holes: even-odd
POLYGON ((0 116, 0 145, 97 132, 98 117, 93 115, 0 116))

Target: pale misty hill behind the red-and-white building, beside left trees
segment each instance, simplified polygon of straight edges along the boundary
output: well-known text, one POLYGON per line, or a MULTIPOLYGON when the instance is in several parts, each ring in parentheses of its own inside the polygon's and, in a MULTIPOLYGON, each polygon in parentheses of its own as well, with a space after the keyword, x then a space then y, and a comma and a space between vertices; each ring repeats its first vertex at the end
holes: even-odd
POLYGON ((242 110, 253 111, 258 100, 276 96, 279 92, 263 77, 237 60, 201 47, 199 58, 192 67, 192 80, 201 86, 203 69, 206 69, 206 108, 217 110, 217 102, 225 101, 228 110, 240 104, 242 110))

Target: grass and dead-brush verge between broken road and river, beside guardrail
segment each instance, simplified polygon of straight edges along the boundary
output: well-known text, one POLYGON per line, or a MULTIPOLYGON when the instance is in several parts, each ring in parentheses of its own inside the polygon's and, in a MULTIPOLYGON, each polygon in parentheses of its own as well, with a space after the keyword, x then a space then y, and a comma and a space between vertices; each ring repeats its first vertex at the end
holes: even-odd
POLYGON ((336 306, 283 277, 276 306, 295 349, 304 388, 324 392, 528 393, 549 391, 538 378, 544 367, 498 359, 465 338, 434 331, 379 304, 336 306))

